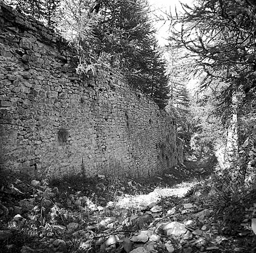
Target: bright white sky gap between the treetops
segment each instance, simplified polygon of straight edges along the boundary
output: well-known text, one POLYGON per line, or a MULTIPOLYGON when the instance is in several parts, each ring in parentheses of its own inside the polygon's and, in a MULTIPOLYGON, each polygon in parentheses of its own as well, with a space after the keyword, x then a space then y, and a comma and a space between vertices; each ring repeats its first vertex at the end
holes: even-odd
MULTIPOLYGON (((154 13, 157 16, 164 16, 164 13, 172 13, 173 16, 175 16, 175 7, 177 10, 177 13, 182 12, 182 3, 187 3, 189 5, 192 5, 193 0, 149 0, 149 3, 152 5, 152 10, 156 10, 154 13)), ((168 44, 166 39, 168 38, 168 29, 169 29, 169 23, 167 22, 160 22, 157 21, 154 23, 155 29, 157 30, 157 36, 159 45, 163 46, 164 44, 168 44)))

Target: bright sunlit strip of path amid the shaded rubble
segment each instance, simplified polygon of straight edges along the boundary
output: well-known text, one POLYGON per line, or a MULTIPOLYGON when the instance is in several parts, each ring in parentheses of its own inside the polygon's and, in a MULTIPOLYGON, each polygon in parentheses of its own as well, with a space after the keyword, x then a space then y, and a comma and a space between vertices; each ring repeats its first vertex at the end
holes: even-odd
POLYGON ((148 194, 140 194, 140 195, 128 195, 119 197, 116 202, 116 206, 123 209, 141 209, 147 207, 149 204, 155 202, 159 202, 163 198, 168 197, 184 197, 189 190, 192 189, 198 182, 186 182, 175 185, 173 188, 161 188, 156 187, 154 191, 148 194))

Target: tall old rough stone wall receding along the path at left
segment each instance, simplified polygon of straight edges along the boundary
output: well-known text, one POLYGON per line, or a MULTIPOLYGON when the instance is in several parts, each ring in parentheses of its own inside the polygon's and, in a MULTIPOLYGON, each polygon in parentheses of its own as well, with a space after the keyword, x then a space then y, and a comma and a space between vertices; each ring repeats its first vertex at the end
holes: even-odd
POLYGON ((0 167, 150 176, 182 161, 172 119, 110 69, 76 74, 53 31, 0 3, 0 167))

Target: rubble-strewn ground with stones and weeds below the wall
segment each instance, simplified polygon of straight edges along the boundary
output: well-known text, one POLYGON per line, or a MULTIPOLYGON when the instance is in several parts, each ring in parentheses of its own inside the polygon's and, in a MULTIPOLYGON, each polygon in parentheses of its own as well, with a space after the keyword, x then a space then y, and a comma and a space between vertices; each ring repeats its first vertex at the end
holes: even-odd
POLYGON ((0 181, 3 253, 254 253, 256 191, 225 187, 214 161, 149 179, 0 181))

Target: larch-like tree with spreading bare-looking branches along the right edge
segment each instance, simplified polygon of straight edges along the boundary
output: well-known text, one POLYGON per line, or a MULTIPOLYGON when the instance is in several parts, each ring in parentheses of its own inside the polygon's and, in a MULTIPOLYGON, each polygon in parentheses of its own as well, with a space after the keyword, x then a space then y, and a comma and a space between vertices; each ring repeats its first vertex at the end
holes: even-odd
POLYGON ((256 155, 245 150, 249 146, 254 150, 256 145, 250 130, 253 123, 248 120, 255 118, 256 2, 196 0, 194 6, 183 4, 183 8, 185 14, 173 19, 170 40, 193 57, 194 72, 203 77, 202 88, 211 93, 205 97, 205 106, 214 101, 212 113, 222 127, 227 131, 232 128, 232 134, 238 135, 239 162, 234 159, 230 171, 232 180, 240 185, 256 155))

